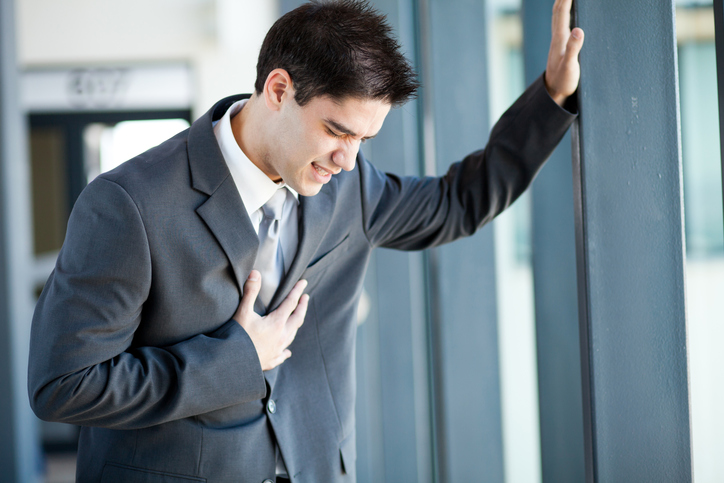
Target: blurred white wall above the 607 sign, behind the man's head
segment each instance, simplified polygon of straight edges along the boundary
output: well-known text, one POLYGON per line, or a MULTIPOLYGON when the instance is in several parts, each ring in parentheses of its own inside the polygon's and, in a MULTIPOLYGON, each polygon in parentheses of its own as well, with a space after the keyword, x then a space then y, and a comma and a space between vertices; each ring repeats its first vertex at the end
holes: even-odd
POLYGON ((194 117, 251 92, 275 0, 17 0, 21 68, 187 62, 194 117))

